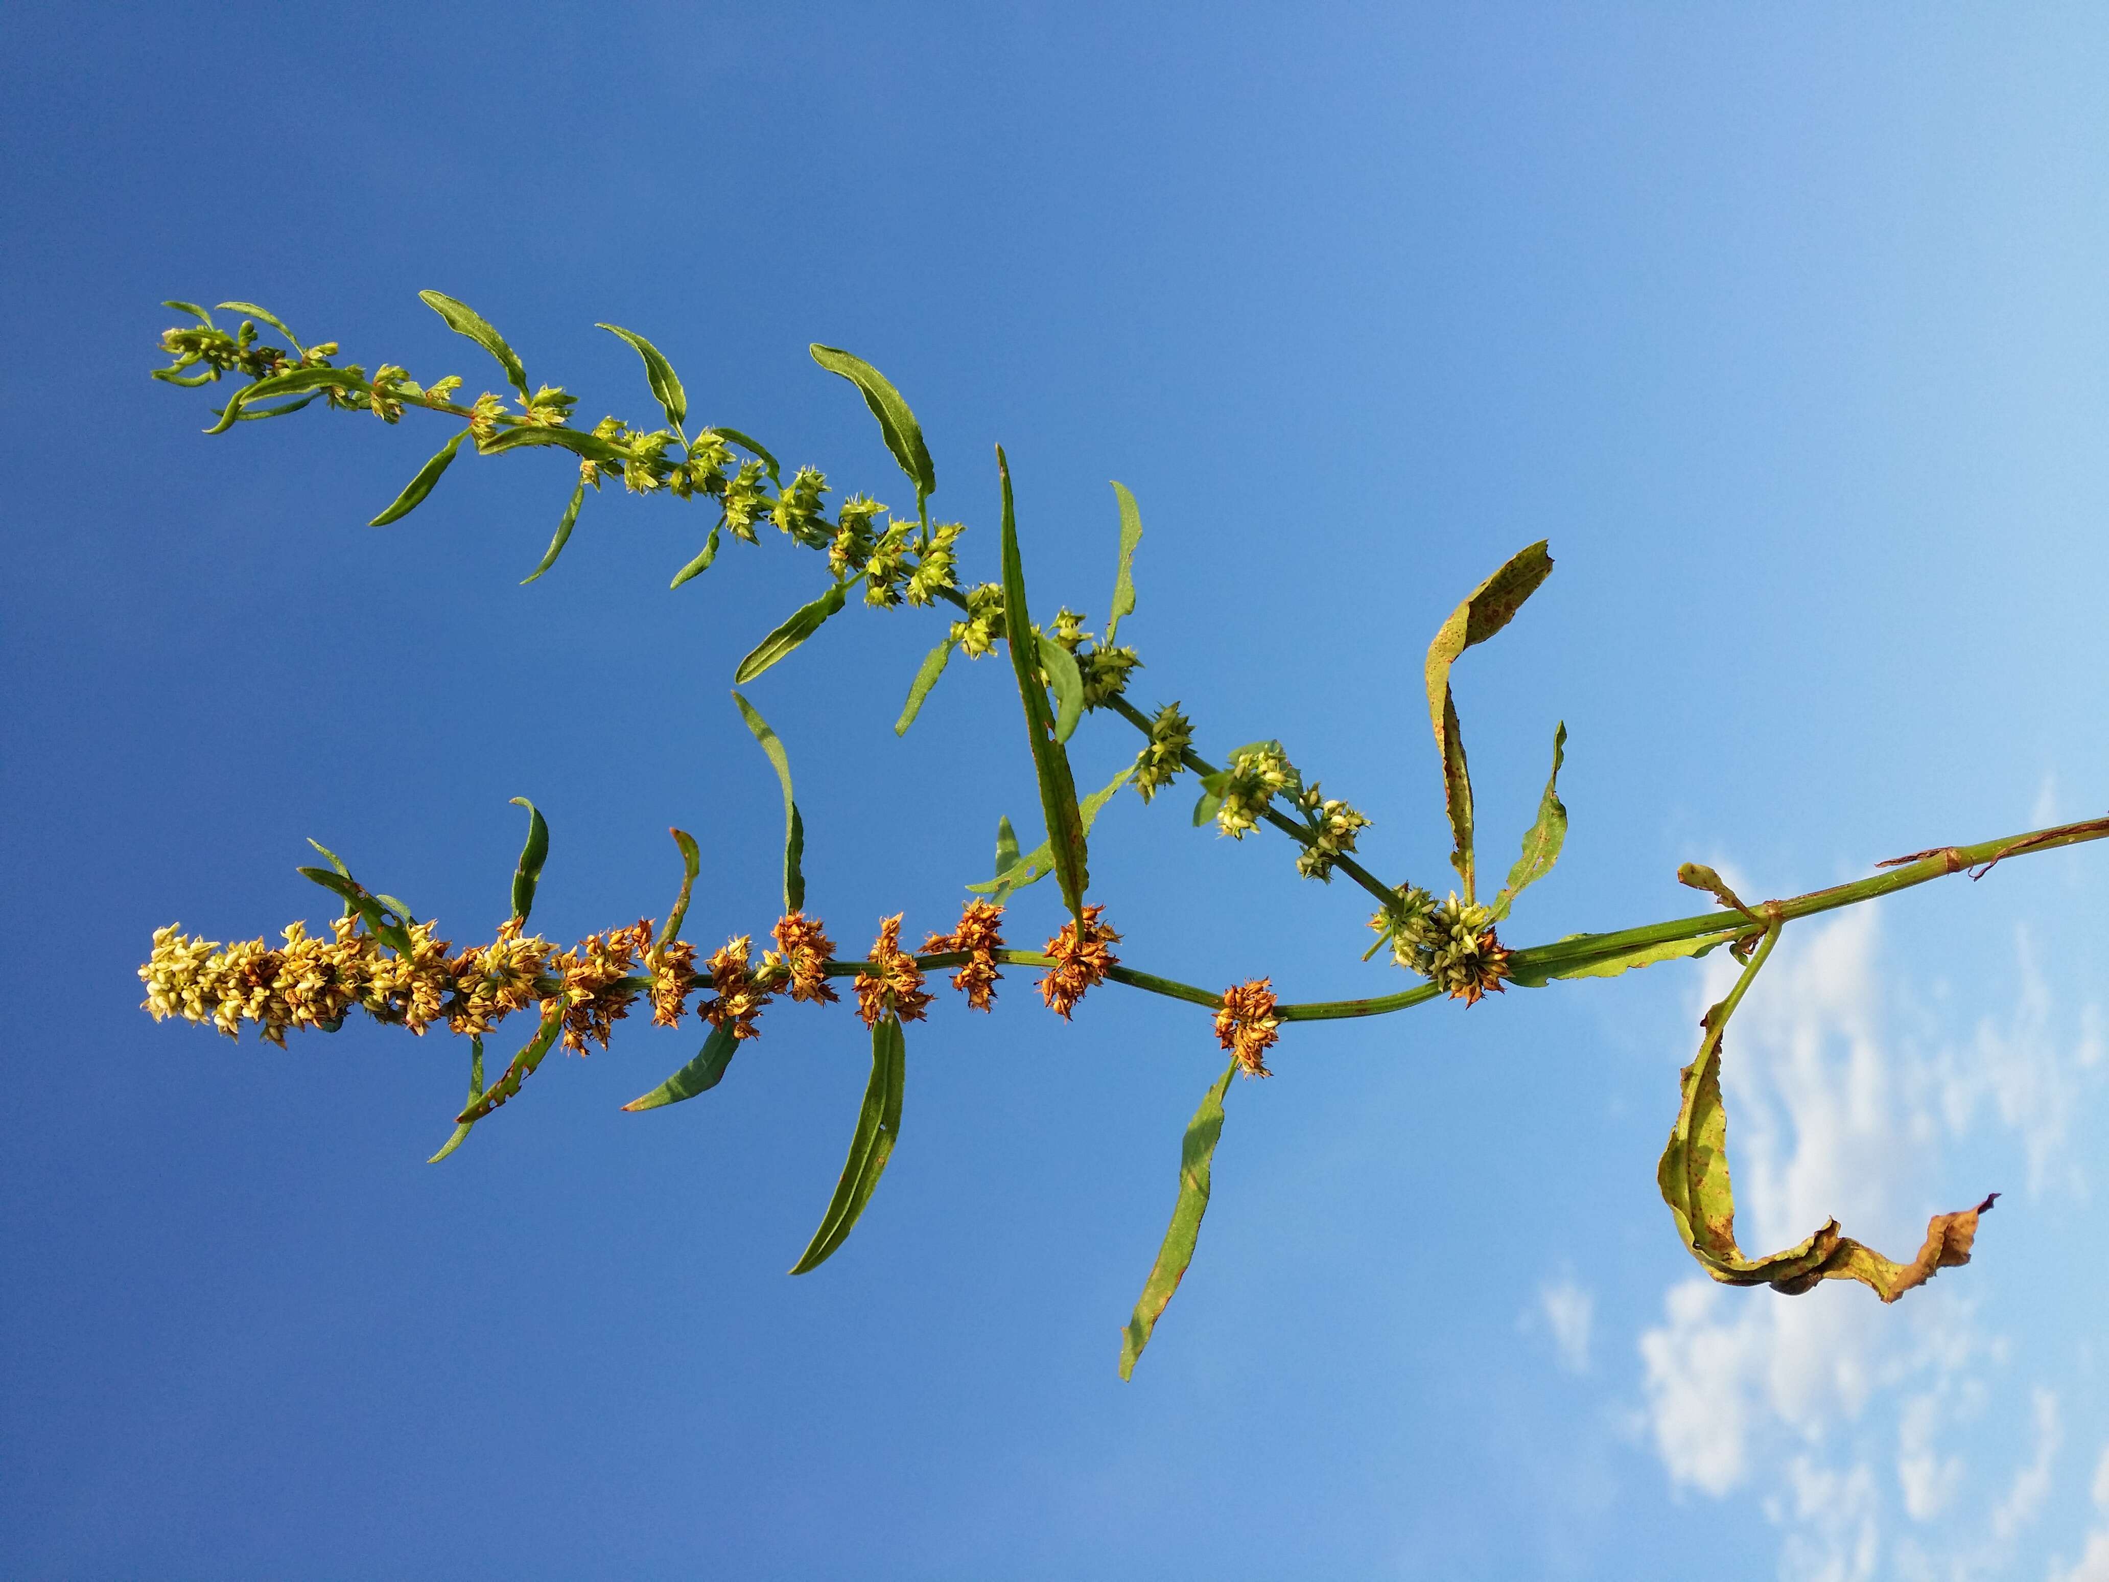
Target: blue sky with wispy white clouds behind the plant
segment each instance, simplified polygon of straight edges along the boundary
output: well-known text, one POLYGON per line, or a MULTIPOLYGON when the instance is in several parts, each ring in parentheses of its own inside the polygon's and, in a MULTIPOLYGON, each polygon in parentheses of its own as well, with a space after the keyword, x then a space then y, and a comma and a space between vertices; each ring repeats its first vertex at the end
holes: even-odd
MULTIPOLYGON (((466 1057, 356 1021, 285 1053, 152 1025, 171 920, 321 924, 306 837, 487 937, 531 795, 536 924, 776 915, 778 793, 732 669, 823 580, 557 456, 308 411, 202 439, 162 297, 272 306, 367 367, 481 352, 934 510, 1103 620, 1128 483, 1133 696, 1280 736, 1438 884, 1419 692, 1451 605, 1559 570, 1457 673, 1506 865, 1565 719, 1573 833, 1508 937, 1788 894, 2109 804, 2109 19, 2092 6, 51 6, 4 23, 11 356, 0 829, 0 1571, 40 1578, 2109 1576, 2109 852, 1788 932, 1729 1046, 1746 1245, 1892 1253, 1881 1308, 1715 1289, 1653 1169, 1715 962, 1293 1027, 1238 1084, 1200 1255, 1118 1331, 1221 1069, 1114 989, 909 1029, 892 1169, 787 1278, 865 1080, 774 1008, 553 1059, 441 1166, 466 1057), (2086 1557, 2086 1559, 2084 1559, 2086 1557)), ((1036 827, 1006 669, 892 719, 930 614, 852 610, 755 683, 812 907, 943 928, 1036 827)), ((1084 724, 1078 778, 1135 751, 1084 724)), ((1367 907, 1187 795, 1099 823, 1124 958, 1379 993, 1367 907)), ((1052 932, 1052 884, 1012 932, 1052 932)), ((500 1042, 498 1055, 510 1050, 500 1042)))

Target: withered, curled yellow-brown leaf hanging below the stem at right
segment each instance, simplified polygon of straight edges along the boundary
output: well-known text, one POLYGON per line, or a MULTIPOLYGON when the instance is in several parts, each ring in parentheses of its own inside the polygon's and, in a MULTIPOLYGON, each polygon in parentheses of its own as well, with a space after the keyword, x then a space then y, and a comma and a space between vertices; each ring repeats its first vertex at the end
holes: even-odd
POLYGON ((1926 1285, 1936 1272, 1970 1261, 1978 1215, 1999 1196, 1993 1192, 1974 1209, 1934 1215, 1926 1226, 1926 1245, 1909 1263, 1894 1263, 1881 1253, 1839 1232, 1829 1219, 1805 1240, 1767 1257, 1744 1257, 1736 1245, 1736 1194, 1727 1169, 1727 1112, 1721 1105, 1721 1040, 1729 1017, 1742 1002, 1750 981, 1780 937, 1772 924, 1750 964, 1736 979, 1727 1000, 1708 1008, 1702 1019, 1700 1053, 1679 1074, 1683 1103, 1670 1141, 1656 1166, 1656 1183, 1670 1207, 1677 1234, 1685 1249, 1721 1285, 1769 1285, 1784 1295, 1801 1295, 1820 1280, 1860 1280, 1883 1301, 1896 1301, 1913 1287, 1926 1285))

